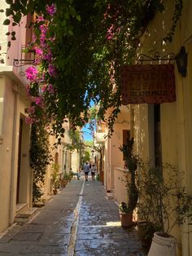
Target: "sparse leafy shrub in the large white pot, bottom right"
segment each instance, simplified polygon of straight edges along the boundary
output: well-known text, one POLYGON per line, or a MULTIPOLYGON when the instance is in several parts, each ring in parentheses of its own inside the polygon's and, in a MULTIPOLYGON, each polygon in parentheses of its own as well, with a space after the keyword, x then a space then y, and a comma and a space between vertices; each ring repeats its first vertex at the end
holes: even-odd
MULTIPOLYGON (((174 166, 168 164, 159 167, 149 166, 146 170, 146 177, 141 175, 140 183, 142 186, 145 183, 145 188, 141 188, 141 194, 145 192, 149 200, 147 210, 151 222, 159 225, 159 231, 154 233, 148 255, 176 256, 177 242, 170 232, 174 227, 185 222, 190 210, 191 196, 181 185, 182 175, 174 166), (164 172, 166 177, 163 175, 164 172)), ((138 204, 138 214, 142 214, 143 207, 145 206, 142 202, 141 205, 138 204)))

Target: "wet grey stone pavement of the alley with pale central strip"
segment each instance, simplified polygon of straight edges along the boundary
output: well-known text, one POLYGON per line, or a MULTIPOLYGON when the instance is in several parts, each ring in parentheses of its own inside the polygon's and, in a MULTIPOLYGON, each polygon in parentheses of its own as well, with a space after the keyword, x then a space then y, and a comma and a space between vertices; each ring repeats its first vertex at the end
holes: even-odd
POLYGON ((29 223, 0 239, 0 255, 144 256, 136 229, 120 227, 118 206, 100 182, 73 179, 29 223))

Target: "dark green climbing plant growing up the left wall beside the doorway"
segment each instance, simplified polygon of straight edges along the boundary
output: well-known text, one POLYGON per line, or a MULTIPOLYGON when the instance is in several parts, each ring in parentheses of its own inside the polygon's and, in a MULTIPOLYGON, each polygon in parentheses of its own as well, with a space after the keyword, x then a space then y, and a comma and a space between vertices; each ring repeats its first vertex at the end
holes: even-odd
POLYGON ((30 148, 30 166, 33 170, 33 205, 36 205, 43 195, 42 186, 50 160, 48 134, 42 124, 33 124, 30 148))

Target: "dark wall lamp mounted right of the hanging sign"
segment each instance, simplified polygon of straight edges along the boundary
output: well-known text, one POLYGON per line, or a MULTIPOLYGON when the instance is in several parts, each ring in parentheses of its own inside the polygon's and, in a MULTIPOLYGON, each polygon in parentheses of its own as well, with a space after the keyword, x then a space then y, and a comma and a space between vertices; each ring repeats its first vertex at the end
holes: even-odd
POLYGON ((187 53, 185 52, 185 46, 181 46, 180 52, 174 58, 176 60, 178 72, 182 77, 186 77, 187 72, 187 53))

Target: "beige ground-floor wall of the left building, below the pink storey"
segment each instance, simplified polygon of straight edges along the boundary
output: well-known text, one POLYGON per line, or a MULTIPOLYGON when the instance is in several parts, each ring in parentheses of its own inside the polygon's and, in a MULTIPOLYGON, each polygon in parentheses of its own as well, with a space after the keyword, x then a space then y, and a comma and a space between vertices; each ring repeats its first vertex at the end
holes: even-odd
MULTIPOLYGON (((2 75, 0 86, 5 86, 2 143, 0 144, 0 204, 2 205, 0 231, 2 231, 10 223, 13 223, 15 217, 20 117, 24 119, 26 100, 20 95, 19 87, 15 86, 15 83, 9 77, 2 75)), ((29 136, 30 126, 24 123, 20 160, 19 202, 26 202, 31 205, 32 172, 28 161, 29 136)))

